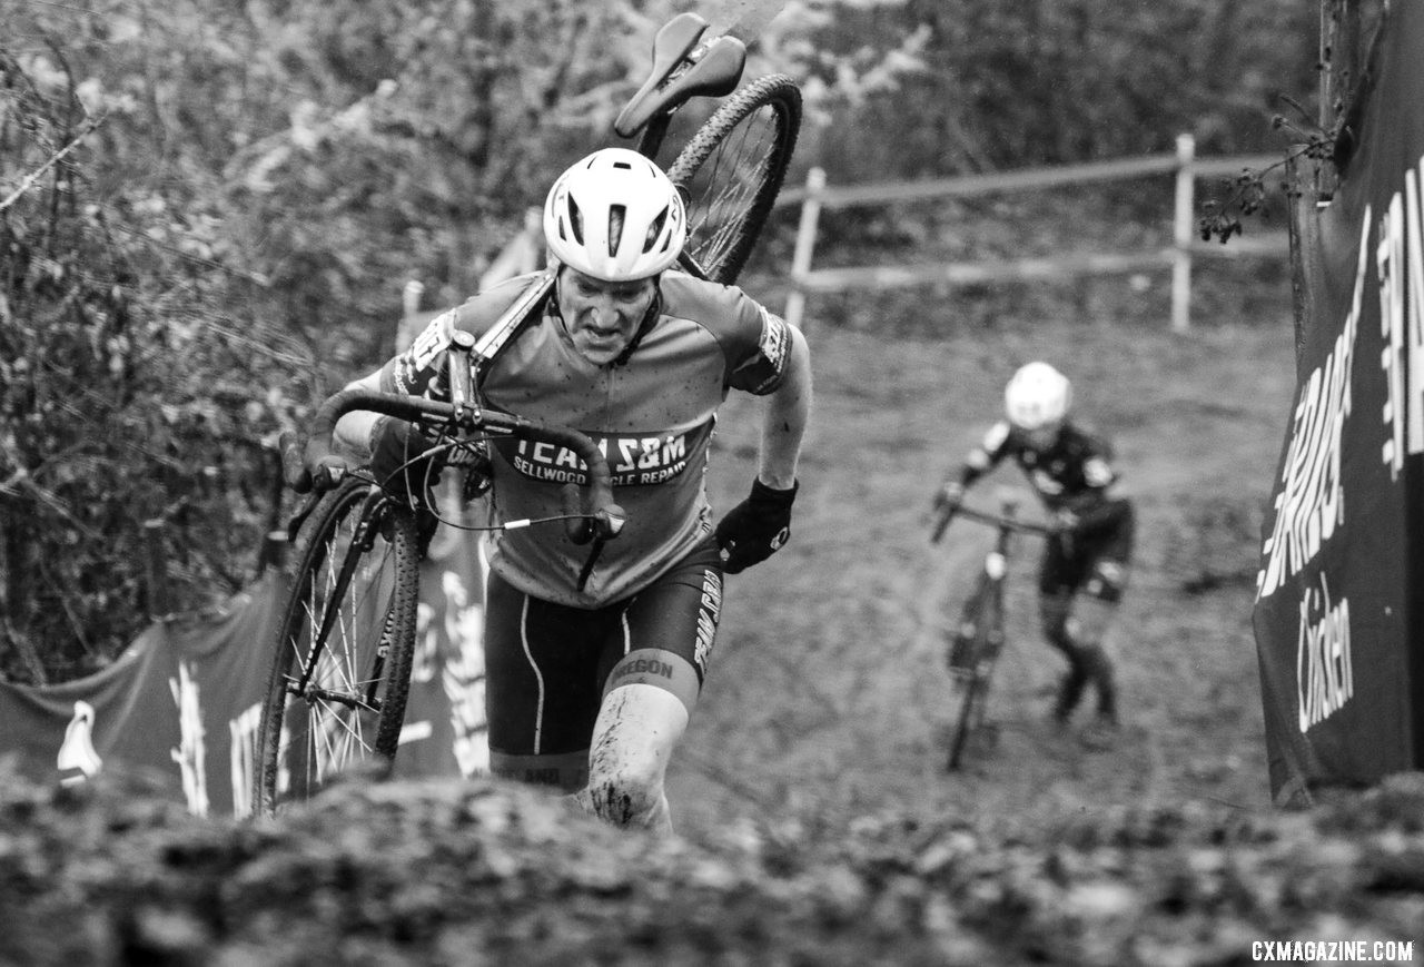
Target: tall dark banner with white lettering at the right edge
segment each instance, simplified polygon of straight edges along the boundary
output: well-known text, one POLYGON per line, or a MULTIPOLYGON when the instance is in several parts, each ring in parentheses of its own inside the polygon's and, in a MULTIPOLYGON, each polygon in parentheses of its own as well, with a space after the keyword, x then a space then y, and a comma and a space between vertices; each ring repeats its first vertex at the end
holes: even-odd
POLYGON ((1272 793, 1420 768, 1424 3, 1394 4, 1320 266, 1253 612, 1272 793))

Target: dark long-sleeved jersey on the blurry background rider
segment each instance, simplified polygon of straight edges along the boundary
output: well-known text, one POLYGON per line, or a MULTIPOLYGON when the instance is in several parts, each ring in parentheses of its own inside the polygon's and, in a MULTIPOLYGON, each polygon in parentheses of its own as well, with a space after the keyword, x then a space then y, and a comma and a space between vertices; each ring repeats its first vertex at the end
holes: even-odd
POLYGON ((1112 449, 1108 443, 1072 423, 1064 423, 1054 444, 1040 451, 1011 423, 1000 420, 970 451, 961 483, 974 483, 1005 457, 1012 457, 1044 504, 1054 511, 1081 513, 1094 507, 1118 479, 1109 463, 1112 449))

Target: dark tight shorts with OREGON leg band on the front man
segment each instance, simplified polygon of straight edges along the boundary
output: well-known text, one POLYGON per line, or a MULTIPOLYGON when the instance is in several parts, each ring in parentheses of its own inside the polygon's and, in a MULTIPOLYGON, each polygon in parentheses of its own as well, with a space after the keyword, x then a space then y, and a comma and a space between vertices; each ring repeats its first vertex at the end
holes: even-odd
POLYGON ((490 574, 486 715, 494 775, 577 790, 604 695, 641 682, 696 704, 722 614, 722 560, 699 544, 638 594, 597 610, 534 598, 490 574))

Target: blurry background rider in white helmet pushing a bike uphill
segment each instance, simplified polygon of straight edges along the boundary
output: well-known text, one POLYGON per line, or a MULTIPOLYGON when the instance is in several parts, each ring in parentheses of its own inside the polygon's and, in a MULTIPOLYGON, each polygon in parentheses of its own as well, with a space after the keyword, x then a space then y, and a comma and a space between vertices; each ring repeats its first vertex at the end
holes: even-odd
POLYGON ((1071 403, 1072 386, 1048 363, 1018 369, 1004 389, 1007 419, 990 427, 960 471, 946 480, 934 507, 953 516, 965 490, 1005 457, 1028 476, 1058 527, 1045 544, 1038 577, 1044 635, 1068 659, 1054 719, 1065 723, 1092 682, 1098 715, 1084 739, 1102 745, 1118 723, 1104 635, 1126 587, 1134 508, 1116 491, 1111 447, 1068 419, 1071 403))

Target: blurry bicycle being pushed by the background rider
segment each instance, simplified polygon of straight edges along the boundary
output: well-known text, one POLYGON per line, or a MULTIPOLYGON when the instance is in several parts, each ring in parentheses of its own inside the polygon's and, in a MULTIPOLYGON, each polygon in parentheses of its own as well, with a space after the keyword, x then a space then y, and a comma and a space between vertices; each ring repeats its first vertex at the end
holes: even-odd
POLYGON ((940 511, 931 543, 938 543, 950 521, 963 517, 995 531, 994 544, 984 555, 974 591, 964 601, 958 624, 947 634, 946 661, 951 682, 950 752, 946 768, 960 768, 970 736, 985 723, 990 685, 1004 651, 1004 582, 1008 560, 1017 534, 1048 535, 1054 530, 1044 524, 1020 520, 1017 501, 1004 497, 1000 511, 988 513, 974 507, 950 506, 940 511))

